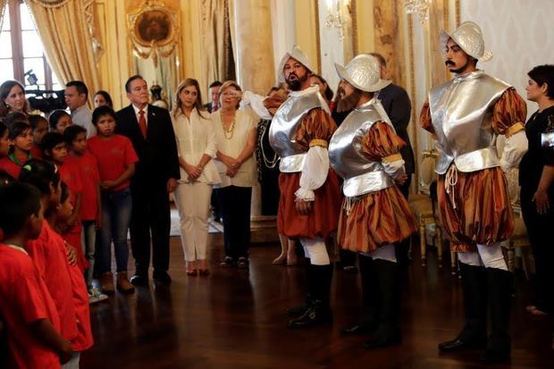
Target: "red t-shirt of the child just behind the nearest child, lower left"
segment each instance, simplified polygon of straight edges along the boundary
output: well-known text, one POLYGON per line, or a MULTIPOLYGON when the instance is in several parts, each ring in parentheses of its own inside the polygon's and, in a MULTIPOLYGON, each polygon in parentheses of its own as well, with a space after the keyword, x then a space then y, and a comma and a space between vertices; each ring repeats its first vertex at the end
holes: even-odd
POLYGON ((54 299, 60 316, 60 333, 66 340, 74 340, 77 337, 77 318, 72 299, 70 265, 63 239, 45 220, 38 239, 29 241, 25 249, 54 299))

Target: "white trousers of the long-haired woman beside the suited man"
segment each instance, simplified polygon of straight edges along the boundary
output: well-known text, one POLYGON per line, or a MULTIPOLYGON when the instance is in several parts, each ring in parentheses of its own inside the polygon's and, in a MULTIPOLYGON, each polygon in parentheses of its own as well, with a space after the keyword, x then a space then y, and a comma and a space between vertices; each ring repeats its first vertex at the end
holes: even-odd
POLYGON ((180 183, 173 195, 179 210, 180 242, 185 260, 205 260, 212 185, 203 182, 180 183))

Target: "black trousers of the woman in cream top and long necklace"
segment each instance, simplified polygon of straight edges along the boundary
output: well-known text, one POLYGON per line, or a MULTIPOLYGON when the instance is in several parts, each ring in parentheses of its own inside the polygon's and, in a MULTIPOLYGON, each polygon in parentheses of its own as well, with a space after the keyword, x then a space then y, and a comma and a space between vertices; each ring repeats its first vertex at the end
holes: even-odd
POLYGON ((217 193, 222 204, 225 256, 248 258, 252 188, 227 186, 217 193))

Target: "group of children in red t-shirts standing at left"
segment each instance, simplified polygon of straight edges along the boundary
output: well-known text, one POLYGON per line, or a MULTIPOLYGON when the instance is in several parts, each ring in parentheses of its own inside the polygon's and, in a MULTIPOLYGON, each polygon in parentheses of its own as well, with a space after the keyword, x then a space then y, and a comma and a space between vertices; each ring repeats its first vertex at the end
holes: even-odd
POLYGON ((97 136, 88 139, 65 112, 50 122, 24 115, 0 123, 1 367, 79 367, 79 353, 93 344, 89 303, 106 298, 92 285, 95 259, 104 292, 114 292, 112 241, 117 288, 134 290, 126 235, 138 157, 114 133, 110 107, 97 108, 92 121, 97 136))

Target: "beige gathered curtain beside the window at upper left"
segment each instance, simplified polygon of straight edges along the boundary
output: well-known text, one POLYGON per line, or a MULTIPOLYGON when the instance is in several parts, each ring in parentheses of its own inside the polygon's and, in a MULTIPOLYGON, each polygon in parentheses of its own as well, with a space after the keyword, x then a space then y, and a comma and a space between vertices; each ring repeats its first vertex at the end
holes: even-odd
POLYGON ((45 46, 46 58, 53 71, 67 83, 82 80, 90 91, 89 98, 100 88, 97 40, 89 28, 90 0, 26 0, 35 18, 38 35, 45 46), (88 12, 88 13, 87 13, 88 12))

